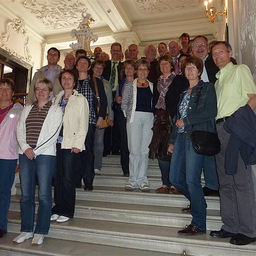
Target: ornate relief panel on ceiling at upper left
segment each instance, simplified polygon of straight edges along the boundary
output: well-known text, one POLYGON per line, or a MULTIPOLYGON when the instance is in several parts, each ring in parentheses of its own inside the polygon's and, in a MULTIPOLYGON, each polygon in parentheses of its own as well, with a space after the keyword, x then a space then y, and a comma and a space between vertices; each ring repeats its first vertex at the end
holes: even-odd
POLYGON ((47 28, 75 27, 79 23, 78 17, 87 11, 79 0, 26 0, 22 4, 47 28))

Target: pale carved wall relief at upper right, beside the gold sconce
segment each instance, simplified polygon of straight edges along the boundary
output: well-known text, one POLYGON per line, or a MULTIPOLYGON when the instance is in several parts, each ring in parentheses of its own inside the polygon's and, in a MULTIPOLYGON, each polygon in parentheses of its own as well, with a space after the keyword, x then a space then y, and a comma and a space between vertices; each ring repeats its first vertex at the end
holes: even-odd
POLYGON ((254 63, 256 63, 256 0, 242 1, 242 24, 241 24, 241 41, 240 50, 246 50, 248 41, 252 41, 252 50, 254 63))

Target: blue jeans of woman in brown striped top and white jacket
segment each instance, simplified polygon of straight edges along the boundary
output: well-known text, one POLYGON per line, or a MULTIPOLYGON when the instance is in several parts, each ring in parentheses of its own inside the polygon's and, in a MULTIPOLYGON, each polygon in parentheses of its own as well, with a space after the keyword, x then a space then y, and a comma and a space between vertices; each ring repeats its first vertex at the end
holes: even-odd
POLYGON ((55 156, 39 155, 33 160, 25 154, 19 155, 20 184, 22 196, 20 199, 21 230, 33 232, 35 219, 35 190, 38 182, 39 207, 35 234, 48 234, 52 210, 52 166, 55 156))

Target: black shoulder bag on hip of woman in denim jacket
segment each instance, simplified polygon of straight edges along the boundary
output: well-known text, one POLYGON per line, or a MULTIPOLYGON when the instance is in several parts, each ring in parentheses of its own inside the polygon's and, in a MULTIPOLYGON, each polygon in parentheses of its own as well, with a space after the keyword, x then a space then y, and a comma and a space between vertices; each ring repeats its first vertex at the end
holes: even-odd
MULTIPOLYGON (((196 108, 198 108, 199 98, 202 93, 202 90, 198 91, 196 99, 196 108)), ((215 122, 214 122, 215 125, 215 122)), ((206 131, 195 131, 193 130, 194 125, 192 126, 191 132, 191 141, 193 149, 197 154, 205 156, 214 156, 220 153, 220 140, 218 134, 215 132, 206 132, 206 131)), ((216 129, 216 127, 215 127, 216 129)))

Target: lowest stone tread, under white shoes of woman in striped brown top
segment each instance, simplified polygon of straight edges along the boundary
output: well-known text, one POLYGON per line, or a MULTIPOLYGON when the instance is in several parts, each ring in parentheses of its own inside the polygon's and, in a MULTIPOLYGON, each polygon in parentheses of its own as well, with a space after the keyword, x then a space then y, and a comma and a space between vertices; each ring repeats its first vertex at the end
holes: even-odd
MULTIPOLYGON (((47 237, 41 246, 31 246, 31 239, 28 239, 22 244, 13 244, 12 240, 18 234, 7 233, 1 238, 0 255, 1 256, 155 256, 156 252, 146 250, 136 250, 124 247, 116 247, 109 245, 99 245, 82 243, 75 241, 67 241, 62 239, 47 237)), ((157 252, 157 256, 180 256, 181 254, 170 254, 157 252)))

